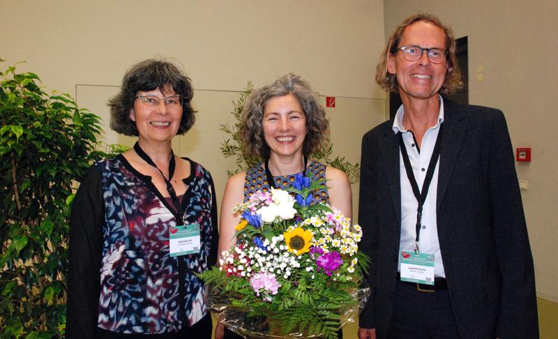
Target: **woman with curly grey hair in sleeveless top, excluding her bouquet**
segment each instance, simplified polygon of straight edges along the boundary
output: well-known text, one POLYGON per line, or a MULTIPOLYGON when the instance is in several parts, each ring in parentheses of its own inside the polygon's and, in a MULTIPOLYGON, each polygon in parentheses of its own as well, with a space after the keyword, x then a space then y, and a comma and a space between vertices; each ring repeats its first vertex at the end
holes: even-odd
MULTIPOLYGON (((227 181, 221 204, 219 253, 228 250, 236 239, 239 218, 232 209, 247 202, 257 190, 292 186, 296 174, 326 179, 327 189, 312 193, 315 203, 327 203, 352 217, 352 194, 347 175, 339 169, 308 158, 312 151, 323 147, 329 138, 329 122, 319 96, 301 77, 287 74, 256 89, 246 98, 241 115, 241 135, 246 155, 259 156, 262 163, 227 181)), ((239 338, 216 327, 216 339, 239 338)))

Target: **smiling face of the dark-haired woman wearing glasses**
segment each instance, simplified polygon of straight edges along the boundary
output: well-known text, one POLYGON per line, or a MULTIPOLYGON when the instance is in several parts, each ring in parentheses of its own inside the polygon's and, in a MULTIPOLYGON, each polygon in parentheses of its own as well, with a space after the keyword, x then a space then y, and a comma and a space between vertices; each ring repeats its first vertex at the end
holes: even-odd
MULTIPOLYGON (((158 99, 176 96, 174 89, 167 87, 165 93, 160 89, 153 91, 138 91, 136 96, 149 95, 158 99)), ((182 119, 182 107, 172 109, 167 107, 165 100, 160 100, 158 105, 151 107, 139 98, 135 99, 134 107, 130 112, 130 120, 135 121, 140 140, 144 142, 170 142, 178 133, 182 119)))

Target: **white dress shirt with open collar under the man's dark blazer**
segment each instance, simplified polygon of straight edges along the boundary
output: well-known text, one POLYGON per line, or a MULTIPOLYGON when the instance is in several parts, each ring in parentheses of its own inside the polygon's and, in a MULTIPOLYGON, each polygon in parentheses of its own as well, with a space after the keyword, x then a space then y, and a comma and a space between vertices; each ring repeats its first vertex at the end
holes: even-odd
MULTIPOLYGON (((406 130, 403 126, 403 116, 405 116, 405 107, 403 107, 403 105, 399 107, 393 121, 393 132, 396 134, 398 132, 402 133, 403 142, 405 143, 405 149, 407 149, 407 154, 409 155, 409 162, 413 168, 418 190, 422 190, 423 188, 423 182, 428 170, 430 158, 432 157, 432 152, 434 151, 440 125, 444 122, 444 101, 441 96, 439 99, 440 108, 437 123, 435 126, 431 126, 426 130, 421 142, 420 151, 414 140, 413 133, 410 130, 406 130)), ((434 255, 434 275, 445 278, 446 273, 444 272, 444 262, 442 261, 442 254, 440 253, 436 220, 439 162, 440 160, 438 158, 434 175, 430 182, 430 188, 428 188, 428 195, 423 204, 422 227, 418 248, 421 253, 430 253, 434 255)), ((416 245, 416 210, 418 208, 418 202, 413 194, 409 178, 407 177, 401 151, 399 151, 399 172, 401 178, 401 239, 399 243, 399 253, 401 253, 402 250, 412 252, 416 245)), ((401 271, 401 256, 398 255, 398 258, 398 271, 401 271)))

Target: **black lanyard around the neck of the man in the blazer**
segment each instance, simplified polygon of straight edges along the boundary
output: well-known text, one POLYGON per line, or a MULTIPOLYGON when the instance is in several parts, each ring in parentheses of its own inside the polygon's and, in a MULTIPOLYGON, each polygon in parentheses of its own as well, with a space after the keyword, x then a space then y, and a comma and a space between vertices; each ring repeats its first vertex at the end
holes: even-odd
POLYGON ((428 164, 428 170, 426 171, 426 176, 423 182, 422 190, 418 190, 418 184, 416 183, 416 179, 413 173, 413 167, 411 166, 411 162, 409 161, 409 155, 407 154, 407 149, 405 148, 405 142, 403 142, 403 135, 402 133, 399 134, 399 146, 401 149, 401 156, 403 158, 403 163, 405 164, 405 171, 407 172, 407 178, 409 178, 409 182, 411 183, 411 187, 413 189, 414 197, 418 202, 418 208, 416 209, 416 238, 415 238, 415 252, 418 253, 418 239, 420 239, 421 235, 421 224, 423 218, 423 204, 426 200, 426 195, 428 195, 428 188, 430 188, 430 183, 432 182, 432 176, 434 176, 434 169, 436 167, 436 163, 440 156, 440 148, 442 145, 442 127, 444 125, 440 125, 438 130, 438 136, 436 137, 436 144, 434 145, 434 151, 432 151, 432 156, 430 157, 430 163, 428 164))

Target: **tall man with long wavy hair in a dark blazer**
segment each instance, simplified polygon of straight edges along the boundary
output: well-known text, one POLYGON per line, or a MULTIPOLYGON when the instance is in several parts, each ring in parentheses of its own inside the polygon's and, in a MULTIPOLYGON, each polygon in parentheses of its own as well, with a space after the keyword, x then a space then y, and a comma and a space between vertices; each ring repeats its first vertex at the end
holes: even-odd
POLYGON ((360 248, 372 259, 372 295, 359 338, 538 338, 506 121, 444 98, 461 84, 451 29, 408 17, 376 80, 402 105, 362 142, 360 248))

